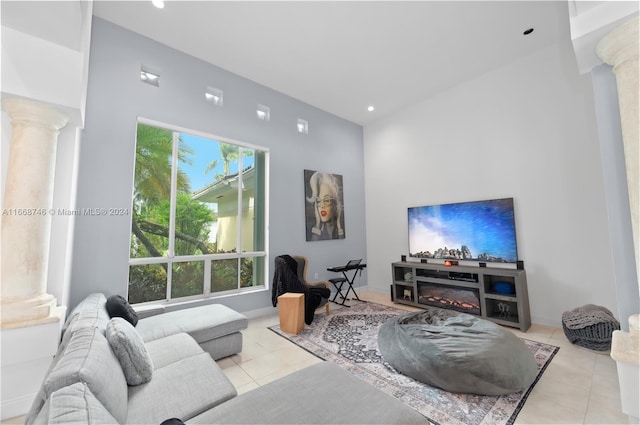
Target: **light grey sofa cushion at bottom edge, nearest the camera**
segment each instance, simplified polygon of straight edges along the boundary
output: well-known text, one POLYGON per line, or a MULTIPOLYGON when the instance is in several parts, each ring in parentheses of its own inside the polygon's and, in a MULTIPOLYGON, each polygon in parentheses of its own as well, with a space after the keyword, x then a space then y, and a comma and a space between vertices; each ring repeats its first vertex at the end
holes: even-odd
POLYGON ((33 422, 34 425, 117 423, 118 421, 91 393, 87 384, 82 382, 54 391, 33 422))

